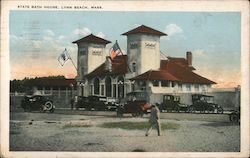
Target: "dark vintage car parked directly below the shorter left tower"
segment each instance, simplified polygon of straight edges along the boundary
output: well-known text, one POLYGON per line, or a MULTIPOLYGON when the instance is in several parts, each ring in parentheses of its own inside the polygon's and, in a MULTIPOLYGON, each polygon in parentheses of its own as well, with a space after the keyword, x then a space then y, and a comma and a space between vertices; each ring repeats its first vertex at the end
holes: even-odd
POLYGON ((85 110, 97 110, 104 111, 107 109, 107 98, 100 96, 88 96, 88 97, 79 97, 76 104, 76 108, 84 108, 85 110))

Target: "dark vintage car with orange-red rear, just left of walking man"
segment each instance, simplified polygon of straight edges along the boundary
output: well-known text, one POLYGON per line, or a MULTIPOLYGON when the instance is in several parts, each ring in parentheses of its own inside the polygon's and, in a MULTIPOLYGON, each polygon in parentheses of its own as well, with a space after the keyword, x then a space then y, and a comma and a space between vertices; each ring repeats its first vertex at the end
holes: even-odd
POLYGON ((142 117, 150 112, 151 104, 146 101, 145 92, 131 92, 127 94, 126 99, 121 100, 117 108, 117 116, 131 114, 133 117, 142 117))

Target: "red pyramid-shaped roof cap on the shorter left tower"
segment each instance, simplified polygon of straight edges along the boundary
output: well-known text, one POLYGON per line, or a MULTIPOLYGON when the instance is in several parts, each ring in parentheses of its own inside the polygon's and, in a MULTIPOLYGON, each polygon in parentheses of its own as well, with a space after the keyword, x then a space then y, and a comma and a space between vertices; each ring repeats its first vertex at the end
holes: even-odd
POLYGON ((100 38, 100 37, 97 37, 93 34, 90 34, 88 36, 85 36, 79 40, 76 40, 72 43, 80 43, 80 42, 85 42, 85 43, 98 43, 98 44, 108 44, 108 43, 111 43, 110 41, 108 40, 105 40, 103 38, 100 38))

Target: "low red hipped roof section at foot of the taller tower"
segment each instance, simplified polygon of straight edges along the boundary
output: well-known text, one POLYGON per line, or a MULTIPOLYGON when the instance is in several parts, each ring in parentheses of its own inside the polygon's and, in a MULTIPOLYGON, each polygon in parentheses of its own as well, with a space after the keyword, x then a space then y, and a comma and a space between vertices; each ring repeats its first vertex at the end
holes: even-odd
POLYGON ((149 70, 141 75, 138 75, 131 80, 168 80, 168 81, 180 81, 175 76, 170 74, 167 71, 156 71, 156 70, 149 70))

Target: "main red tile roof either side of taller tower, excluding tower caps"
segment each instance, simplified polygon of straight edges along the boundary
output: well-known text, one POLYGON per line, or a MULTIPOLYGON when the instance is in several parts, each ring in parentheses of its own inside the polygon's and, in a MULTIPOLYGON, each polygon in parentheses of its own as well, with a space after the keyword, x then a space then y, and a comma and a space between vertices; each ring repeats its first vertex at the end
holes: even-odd
MULTIPOLYGON (((97 67, 86 77, 105 75, 124 75, 128 73, 127 55, 117 56, 112 60, 112 71, 105 69, 105 63, 97 67)), ((186 64, 186 59, 169 58, 161 60, 159 70, 149 70, 131 80, 168 80, 182 83, 215 84, 215 82, 194 73, 186 64)))

